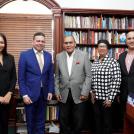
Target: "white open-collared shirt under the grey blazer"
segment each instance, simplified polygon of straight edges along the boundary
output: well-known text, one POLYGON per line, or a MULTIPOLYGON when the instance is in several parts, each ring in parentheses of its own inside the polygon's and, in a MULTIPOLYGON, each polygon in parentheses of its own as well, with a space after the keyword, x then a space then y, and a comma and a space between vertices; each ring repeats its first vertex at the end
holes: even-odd
POLYGON ((66 55, 67 55, 67 67, 68 67, 68 74, 69 74, 69 76, 71 76, 71 70, 72 70, 74 53, 75 53, 75 51, 69 57, 68 53, 66 52, 66 55))

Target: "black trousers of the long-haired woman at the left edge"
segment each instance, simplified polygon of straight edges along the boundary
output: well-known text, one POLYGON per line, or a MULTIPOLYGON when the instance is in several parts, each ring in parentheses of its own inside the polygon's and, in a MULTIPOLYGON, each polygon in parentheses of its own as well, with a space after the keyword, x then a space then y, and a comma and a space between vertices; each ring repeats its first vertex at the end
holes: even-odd
POLYGON ((8 119, 11 104, 0 104, 0 134, 8 134, 8 119))

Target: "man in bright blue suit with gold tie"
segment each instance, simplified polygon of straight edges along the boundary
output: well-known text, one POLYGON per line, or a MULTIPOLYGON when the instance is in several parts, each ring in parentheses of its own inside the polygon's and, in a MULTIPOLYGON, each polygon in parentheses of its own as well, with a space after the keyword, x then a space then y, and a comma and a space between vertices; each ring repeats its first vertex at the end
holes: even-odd
POLYGON ((53 64, 51 54, 43 50, 43 33, 34 35, 32 45, 32 49, 20 54, 18 82, 28 134, 44 134, 47 100, 52 99, 54 89, 53 64))

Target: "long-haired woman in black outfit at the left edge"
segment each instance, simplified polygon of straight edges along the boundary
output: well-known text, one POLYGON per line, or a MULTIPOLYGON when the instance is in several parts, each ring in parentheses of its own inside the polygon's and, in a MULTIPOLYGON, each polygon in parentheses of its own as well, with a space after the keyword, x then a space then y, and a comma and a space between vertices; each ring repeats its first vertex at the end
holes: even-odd
POLYGON ((14 57, 7 53, 7 41, 0 33, 0 134, 8 134, 8 119, 16 84, 14 57))

